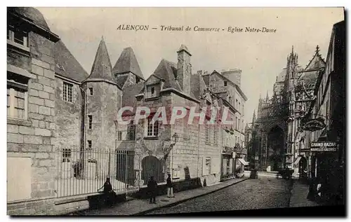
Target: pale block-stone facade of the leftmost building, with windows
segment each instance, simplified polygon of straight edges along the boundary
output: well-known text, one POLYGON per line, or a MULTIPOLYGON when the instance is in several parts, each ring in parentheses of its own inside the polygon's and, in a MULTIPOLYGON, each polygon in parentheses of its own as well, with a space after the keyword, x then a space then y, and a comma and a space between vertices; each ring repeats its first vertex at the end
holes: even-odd
POLYGON ((47 31, 46 36, 51 39, 46 39, 35 29, 24 29, 27 31, 24 43, 8 39, 8 214, 15 214, 21 208, 25 209, 21 214, 30 214, 35 209, 44 211, 27 201, 55 197, 57 190, 53 50, 58 37, 47 31), (25 79, 26 83, 17 83, 18 79, 25 79), (26 87, 22 88, 22 84, 26 87), (18 113, 20 109, 19 95, 12 97, 11 91, 25 95, 21 116, 11 111, 17 109, 18 113))

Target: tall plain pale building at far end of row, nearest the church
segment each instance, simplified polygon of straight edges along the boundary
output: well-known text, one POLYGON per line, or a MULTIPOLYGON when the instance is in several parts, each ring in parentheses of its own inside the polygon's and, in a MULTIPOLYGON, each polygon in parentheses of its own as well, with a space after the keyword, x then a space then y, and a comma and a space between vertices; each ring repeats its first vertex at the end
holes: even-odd
POLYGON ((230 69, 221 73, 215 70, 211 74, 204 73, 202 76, 208 88, 220 98, 220 104, 229 109, 229 118, 233 125, 223 125, 220 129, 223 144, 222 177, 234 176, 235 169, 241 169, 241 165, 248 164, 244 160, 247 154, 244 144, 244 104, 247 98, 240 88, 241 70, 230 69))

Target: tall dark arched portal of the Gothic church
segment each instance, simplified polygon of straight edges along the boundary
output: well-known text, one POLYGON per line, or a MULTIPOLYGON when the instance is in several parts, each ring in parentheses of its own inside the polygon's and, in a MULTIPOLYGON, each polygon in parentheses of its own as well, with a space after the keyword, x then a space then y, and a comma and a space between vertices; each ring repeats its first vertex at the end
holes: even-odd
POLYGON ((267 167, 277 171, 284 163, 284 131, 281 127, 272 127, 267 135, 267 167))

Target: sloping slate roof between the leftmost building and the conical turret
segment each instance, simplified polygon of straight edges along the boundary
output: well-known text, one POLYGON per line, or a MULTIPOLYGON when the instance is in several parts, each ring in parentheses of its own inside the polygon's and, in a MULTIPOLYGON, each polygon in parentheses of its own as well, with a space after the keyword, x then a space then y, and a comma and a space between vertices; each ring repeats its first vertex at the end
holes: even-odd
POLYGON ((81 64, 69 52, 62 41, 55 43, 54 55, 55 73, 78 82, 82 82, 88 77, 88 73, 81 67, 81 64))

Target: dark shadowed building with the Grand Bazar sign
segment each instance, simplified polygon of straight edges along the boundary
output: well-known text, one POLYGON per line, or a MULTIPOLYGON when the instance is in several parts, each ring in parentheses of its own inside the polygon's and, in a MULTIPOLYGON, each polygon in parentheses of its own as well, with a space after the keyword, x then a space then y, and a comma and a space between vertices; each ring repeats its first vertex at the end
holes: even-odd
POLYGON ((325 69, 318 73, 314 99, 298 132, 298 156, 307 162, 307 176, 324 186, 322 198, 329 204, 345 204, 345 76, 341 21, 333 25, 325 69))

